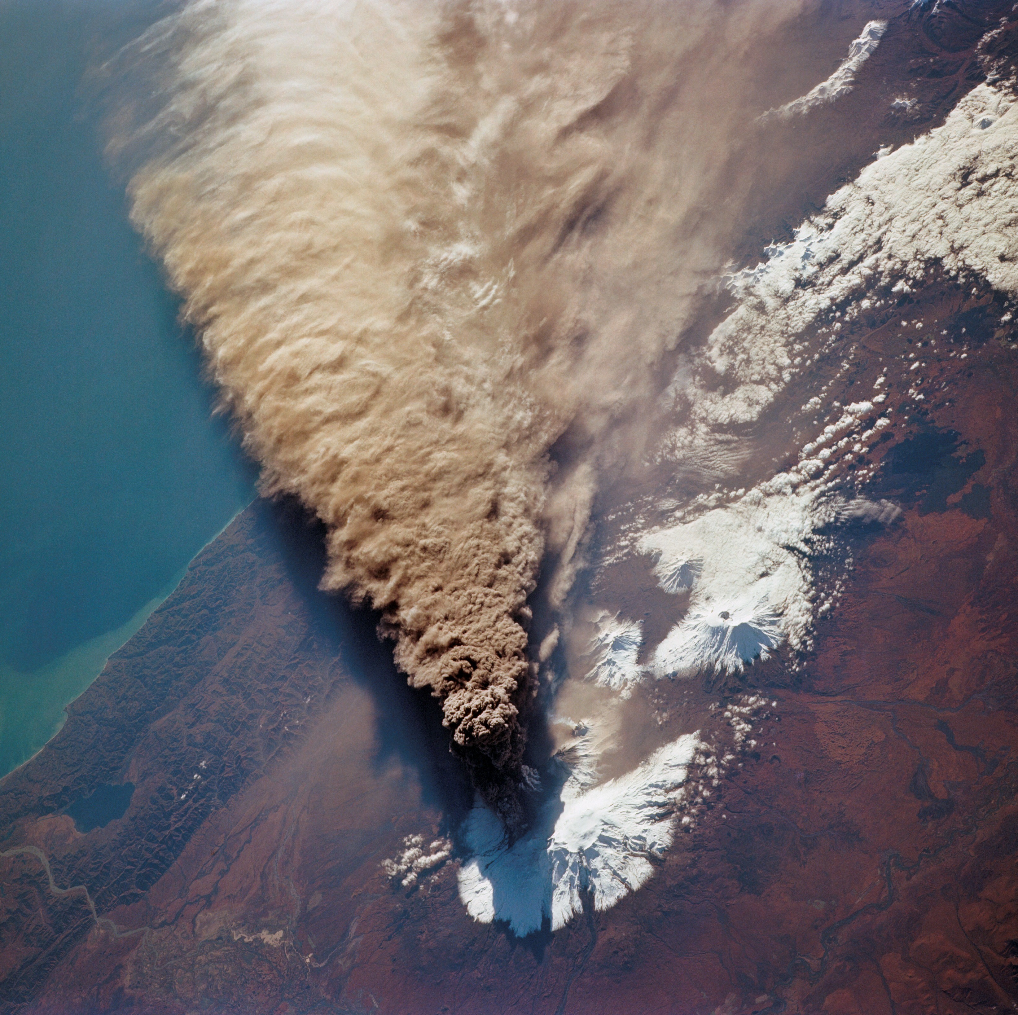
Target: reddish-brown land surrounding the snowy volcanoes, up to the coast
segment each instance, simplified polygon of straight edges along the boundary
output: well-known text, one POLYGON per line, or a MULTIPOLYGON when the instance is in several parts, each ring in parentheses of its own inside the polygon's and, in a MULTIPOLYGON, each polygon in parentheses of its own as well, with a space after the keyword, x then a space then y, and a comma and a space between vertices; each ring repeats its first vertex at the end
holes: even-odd
MULTIPOLYGON (((896 143, 979 77, 989 21, 940 8, 871 61, 921 100, 896 143)), ((817 170, 817 202, 855 169, 817 170)), ((467 784, 374 618, 317 591, 320 530, 258 504, 0 782, 0 1010, 1018 1011, 1018 351, 995 299, 942 280, 846 331, 844 394, 888 368, 894 406, 859 493, 902 513, 836 535, 853 564, 808 656, 648 692, 719 744, 712 706, 767 706, 640 891, 519 939, 467 916, 455 853, 386 873, 405 836, 455 834, 467 784)))

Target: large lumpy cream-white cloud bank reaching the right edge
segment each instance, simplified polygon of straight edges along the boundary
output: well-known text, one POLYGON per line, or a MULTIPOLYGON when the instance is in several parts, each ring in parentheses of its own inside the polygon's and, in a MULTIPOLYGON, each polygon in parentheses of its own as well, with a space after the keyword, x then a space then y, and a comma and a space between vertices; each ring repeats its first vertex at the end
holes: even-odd
MULTIPOLYGON (((943 126, 882 154, 835 191, 792 241, 729 275, 736 305, 673 380, 669 396, 681 421, 663 440, 661 457, 723 459, 740 428, 837 347, 844 322, 910 292, 934 271, 1018 292, 1016 154, 1014 98, 979 84, 943 126)), ((838 440, 853 420, 847 413, 832 425, 838 440)), ((803 456, 807 472, 826 468, 832 449, 822 445, 832 436, 803 456)))

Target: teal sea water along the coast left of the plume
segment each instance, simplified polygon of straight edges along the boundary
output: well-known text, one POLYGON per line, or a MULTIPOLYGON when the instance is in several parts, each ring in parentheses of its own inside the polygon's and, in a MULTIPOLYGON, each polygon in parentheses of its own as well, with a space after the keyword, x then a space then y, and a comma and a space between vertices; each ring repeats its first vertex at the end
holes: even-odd
POLYGON ((158 9, 0 4, 0 773, 253 496, 82 99, 158 9))

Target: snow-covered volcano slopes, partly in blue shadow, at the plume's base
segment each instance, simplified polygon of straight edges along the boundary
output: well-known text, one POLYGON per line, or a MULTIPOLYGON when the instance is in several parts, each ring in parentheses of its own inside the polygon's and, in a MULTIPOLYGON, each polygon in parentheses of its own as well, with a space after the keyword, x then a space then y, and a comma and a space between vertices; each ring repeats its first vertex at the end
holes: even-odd
POLYGON ((459 894, 474 919, 505 920, 517 935, 548 919, 557 931, 582 911, 582 892, 603 911, 653 876, 649 857, 672 844, 699 740, 679 737, 626 775, 590 786, 596 770, 583 742, 589 735, 579 728, 564 752, 571 771, 561 792, 513 845, 488 807, 478 802, 471 811, 465 839, 473 856, 460 868, 459 894))

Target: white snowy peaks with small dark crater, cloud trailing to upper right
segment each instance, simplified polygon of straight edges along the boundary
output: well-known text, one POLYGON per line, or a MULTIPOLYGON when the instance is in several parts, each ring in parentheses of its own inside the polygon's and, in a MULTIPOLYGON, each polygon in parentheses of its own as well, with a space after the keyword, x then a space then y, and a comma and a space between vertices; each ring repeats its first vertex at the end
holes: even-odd
MULTIPOLYGON (((643 533, 636 550, 656 558, 666 591, 689 591, 684 616, 641 672, 736 672, 782 643, 811 645, 812 624, 839 595, 817 586, 814 562, 851 521, 890 524, 886 501, 846 500, 837 473, 890 426, 884 396, 843 406, 799 452, 794 467, 735 494, 694 501, 670 524, 643 533), (687 575, 681 584, 676 575, 687 575)), ((847 561, 844 562, 847 566, 847 561)))

